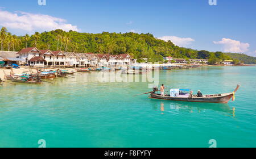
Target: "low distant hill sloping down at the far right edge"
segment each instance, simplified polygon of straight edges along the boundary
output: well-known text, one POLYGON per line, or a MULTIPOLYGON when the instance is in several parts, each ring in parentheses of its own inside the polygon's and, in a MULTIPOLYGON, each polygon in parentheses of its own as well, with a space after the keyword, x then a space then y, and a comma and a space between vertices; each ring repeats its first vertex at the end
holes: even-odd
POLYGON ((243 53, 225 53, 225 55, 240 60, 245 64, 256 64, 256 57, 248 56, 243 53))

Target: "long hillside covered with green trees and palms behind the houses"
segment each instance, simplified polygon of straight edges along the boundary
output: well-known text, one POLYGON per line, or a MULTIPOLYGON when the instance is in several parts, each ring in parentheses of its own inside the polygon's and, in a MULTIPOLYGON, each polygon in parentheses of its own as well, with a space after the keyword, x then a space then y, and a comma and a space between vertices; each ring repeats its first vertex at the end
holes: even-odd
MULTIPOLYGON (((150 62, 162 61, 163 57, 174 58, 207 58, 210 64, 221 60, 238 59, 246 64, 256 64, 254 57, 222 52, 197 51, 195 49, 183 48, 174 45, 171 41, 156 39, 152 34, 109 33, 101 34, 80 33, 76 31, 65 32, 55 30, 49 32, 35 32, 34 35, 16 36, 2 27, 0 32, 1 50, 19 51, 26 47, 37 47, 39 49, 60 50, 65 52, 80 53, 109 53, 118 55, 129 53, 138 62, 142 58, 148 58, 150 62)), ((236 60, 238 62, 238 60, 236 60)))

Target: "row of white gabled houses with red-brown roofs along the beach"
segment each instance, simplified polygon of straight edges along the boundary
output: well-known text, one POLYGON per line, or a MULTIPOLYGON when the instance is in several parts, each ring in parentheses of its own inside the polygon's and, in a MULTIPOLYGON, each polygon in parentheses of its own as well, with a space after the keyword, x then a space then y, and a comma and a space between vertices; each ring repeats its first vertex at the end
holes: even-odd
POLYGON ((37 48, 22 49, 17 56, 33 66, 114 66, 130 65, 136 62, 129 54, 109 55, 94 53, 73 53, 63 51, 39 50, 37 48))

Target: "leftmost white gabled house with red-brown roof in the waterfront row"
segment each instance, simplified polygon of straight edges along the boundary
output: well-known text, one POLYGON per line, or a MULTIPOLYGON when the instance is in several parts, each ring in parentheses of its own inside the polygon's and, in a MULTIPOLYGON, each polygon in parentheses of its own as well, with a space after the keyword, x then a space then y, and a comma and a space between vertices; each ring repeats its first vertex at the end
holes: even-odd
POLYGON ((30 60, 32 57, 35 56, 40 56, 40 51, 38 48, 36 47, 31 47, 31 48, 25 48, 20 50, 18 53, 18 57, 19 58, 23 58, 25 60, 25 62, 27 63, 28 60, 30 60))

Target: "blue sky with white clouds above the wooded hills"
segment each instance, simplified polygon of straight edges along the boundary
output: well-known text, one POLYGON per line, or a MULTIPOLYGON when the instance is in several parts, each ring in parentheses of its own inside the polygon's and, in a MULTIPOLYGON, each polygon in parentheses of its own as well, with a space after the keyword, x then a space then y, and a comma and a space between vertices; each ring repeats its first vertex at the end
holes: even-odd
POLYGON ((150 32, 176 45, 256 57, 254 0, 1 0, 0 26, 17 35, 56 28, 150 32))

